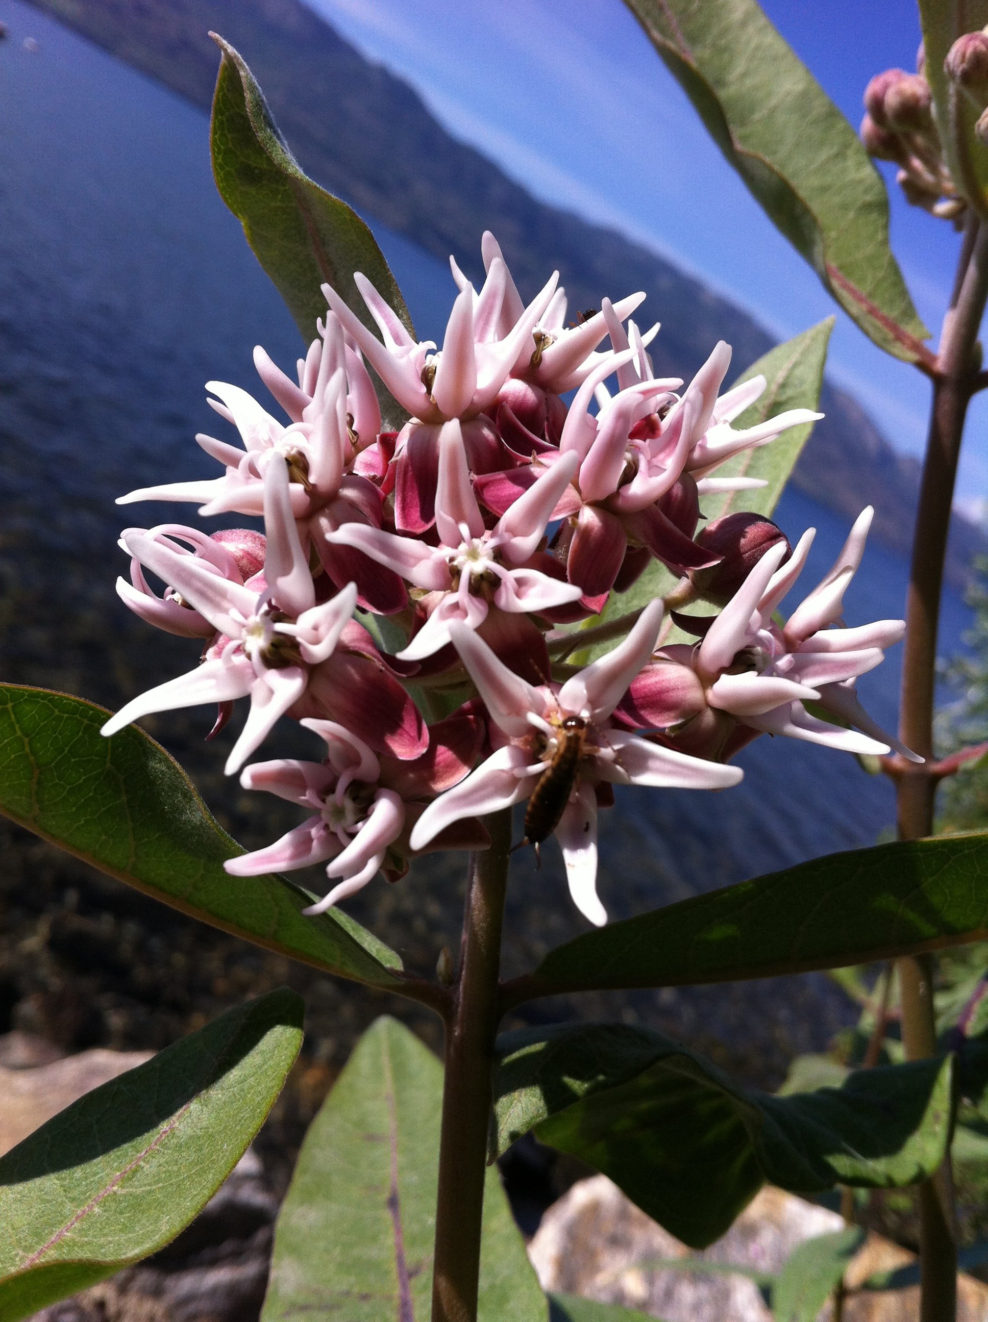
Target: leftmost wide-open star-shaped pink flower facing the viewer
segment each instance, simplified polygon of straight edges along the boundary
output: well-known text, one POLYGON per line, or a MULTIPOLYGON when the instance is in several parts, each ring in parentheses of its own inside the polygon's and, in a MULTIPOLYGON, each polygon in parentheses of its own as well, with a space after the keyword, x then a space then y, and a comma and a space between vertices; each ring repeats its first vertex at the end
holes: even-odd
POLYGON ((284 459, 275 453, 265 476, 267 535, 265 587, 258 592, 222 578, 212 564, 171 550, 149 533, 130 529, 127 550, 177 591, 221 635, 206 660, 128 702, 103 726, 104 735, 152 711, 225 703, 250 695, 250 713, 226 763, 227 776, 299 702, 309 676, 333 653, 353 613, 356 587, 316 604, 308 561, 299 543, 284 459))

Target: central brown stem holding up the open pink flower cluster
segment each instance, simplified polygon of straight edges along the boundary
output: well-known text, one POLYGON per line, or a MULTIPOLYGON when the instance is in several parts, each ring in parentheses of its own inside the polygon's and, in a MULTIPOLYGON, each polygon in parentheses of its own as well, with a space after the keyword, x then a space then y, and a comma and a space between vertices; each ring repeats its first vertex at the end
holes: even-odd
POLYGON ((459 981, 446 1021, 432 1322, 475 1322, 477 1315, 511 810, 495 813, 484 824, 491 833, 491 847, 471 859, 459 981))

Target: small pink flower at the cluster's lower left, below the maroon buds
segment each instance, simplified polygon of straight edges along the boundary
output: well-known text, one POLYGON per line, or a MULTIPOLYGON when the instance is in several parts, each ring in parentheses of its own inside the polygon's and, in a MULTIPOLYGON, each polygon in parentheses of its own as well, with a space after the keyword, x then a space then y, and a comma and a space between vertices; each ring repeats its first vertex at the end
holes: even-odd
MULTIPOLYGON (((374 756, 357 735, 332 720, 303 720, 327 743, 321 763, 279 759, 243 769, 245 789, 266 789, 302 808, 315 809, 274 845, 230 858, 224 865, 234 876, 291 871, 329 859, 327 876, 341 878, 304 914, 323 914, 361 890, 384 870, 389 880, 409 867, 409 832, 429 800, 463 780, 484 742, 484 723, 470 713, 436 722, 429 747, 418 758, 401 761, 374 756)), ((488 837, 480 824, 454 829, 432 842, 432 849, 477 849, 488 837)))

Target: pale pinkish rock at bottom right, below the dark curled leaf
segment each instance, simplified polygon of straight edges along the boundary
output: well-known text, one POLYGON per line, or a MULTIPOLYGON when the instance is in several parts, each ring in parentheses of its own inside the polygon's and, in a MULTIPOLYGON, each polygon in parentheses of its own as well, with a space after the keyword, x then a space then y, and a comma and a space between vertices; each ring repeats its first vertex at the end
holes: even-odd
MULTIPOLYGON (((545 1290, 639 1309, 665 1322, 771 1322, 745 1276, 648 1266, 656 1260, 730 1263, 775 1273, 804 1240, 840 1229, 843 1219, 778 1188, 763 1188, 730 1231, 697 1253, 645 1216, 604 1175, 579 1181, 542 1218, 529 1256, 545 1290)), ((915 1263, 915 1255, 869 1235, 846 1273, 853 1292, 876 1272, 915 1263)), ((988 1286, 960 1276, 958 1322, 988 1322, 988 1286)), ((821 1318, 828 1318, 827 1309, 821 1318)), ((850 1293, 844 1322, 913 1322, 919 1288, 850 1293)))

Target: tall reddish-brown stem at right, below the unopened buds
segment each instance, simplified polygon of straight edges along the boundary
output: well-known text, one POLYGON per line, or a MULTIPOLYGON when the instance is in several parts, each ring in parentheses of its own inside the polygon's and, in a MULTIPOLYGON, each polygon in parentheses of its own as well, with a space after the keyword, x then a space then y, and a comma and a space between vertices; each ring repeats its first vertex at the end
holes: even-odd
MULTIPOLYGON (((943 587, 954 483, 964 418, 980 362, 975 342, 988 297, 988 227, 979 222, 966 235, 950 311, 944 317, 934 379, 930 432, 919 492, 913 564, 906 600, 906 640, 902 662, 903 743, 932 759, 936 623, 943 587)), ((936 779, 917 767, 897 781, 898 833, 919 839, 934 828, 936 779)), ((936 1050, 932 999, 932 960, 898 961, 902 990, 902 1035, 910 1060, 936 1050)), ((956 1314, 956 1243, 950 1159, 934 1179, 919 1187, 922 1249, 922 1322, 954 1322, 956 1314)))

